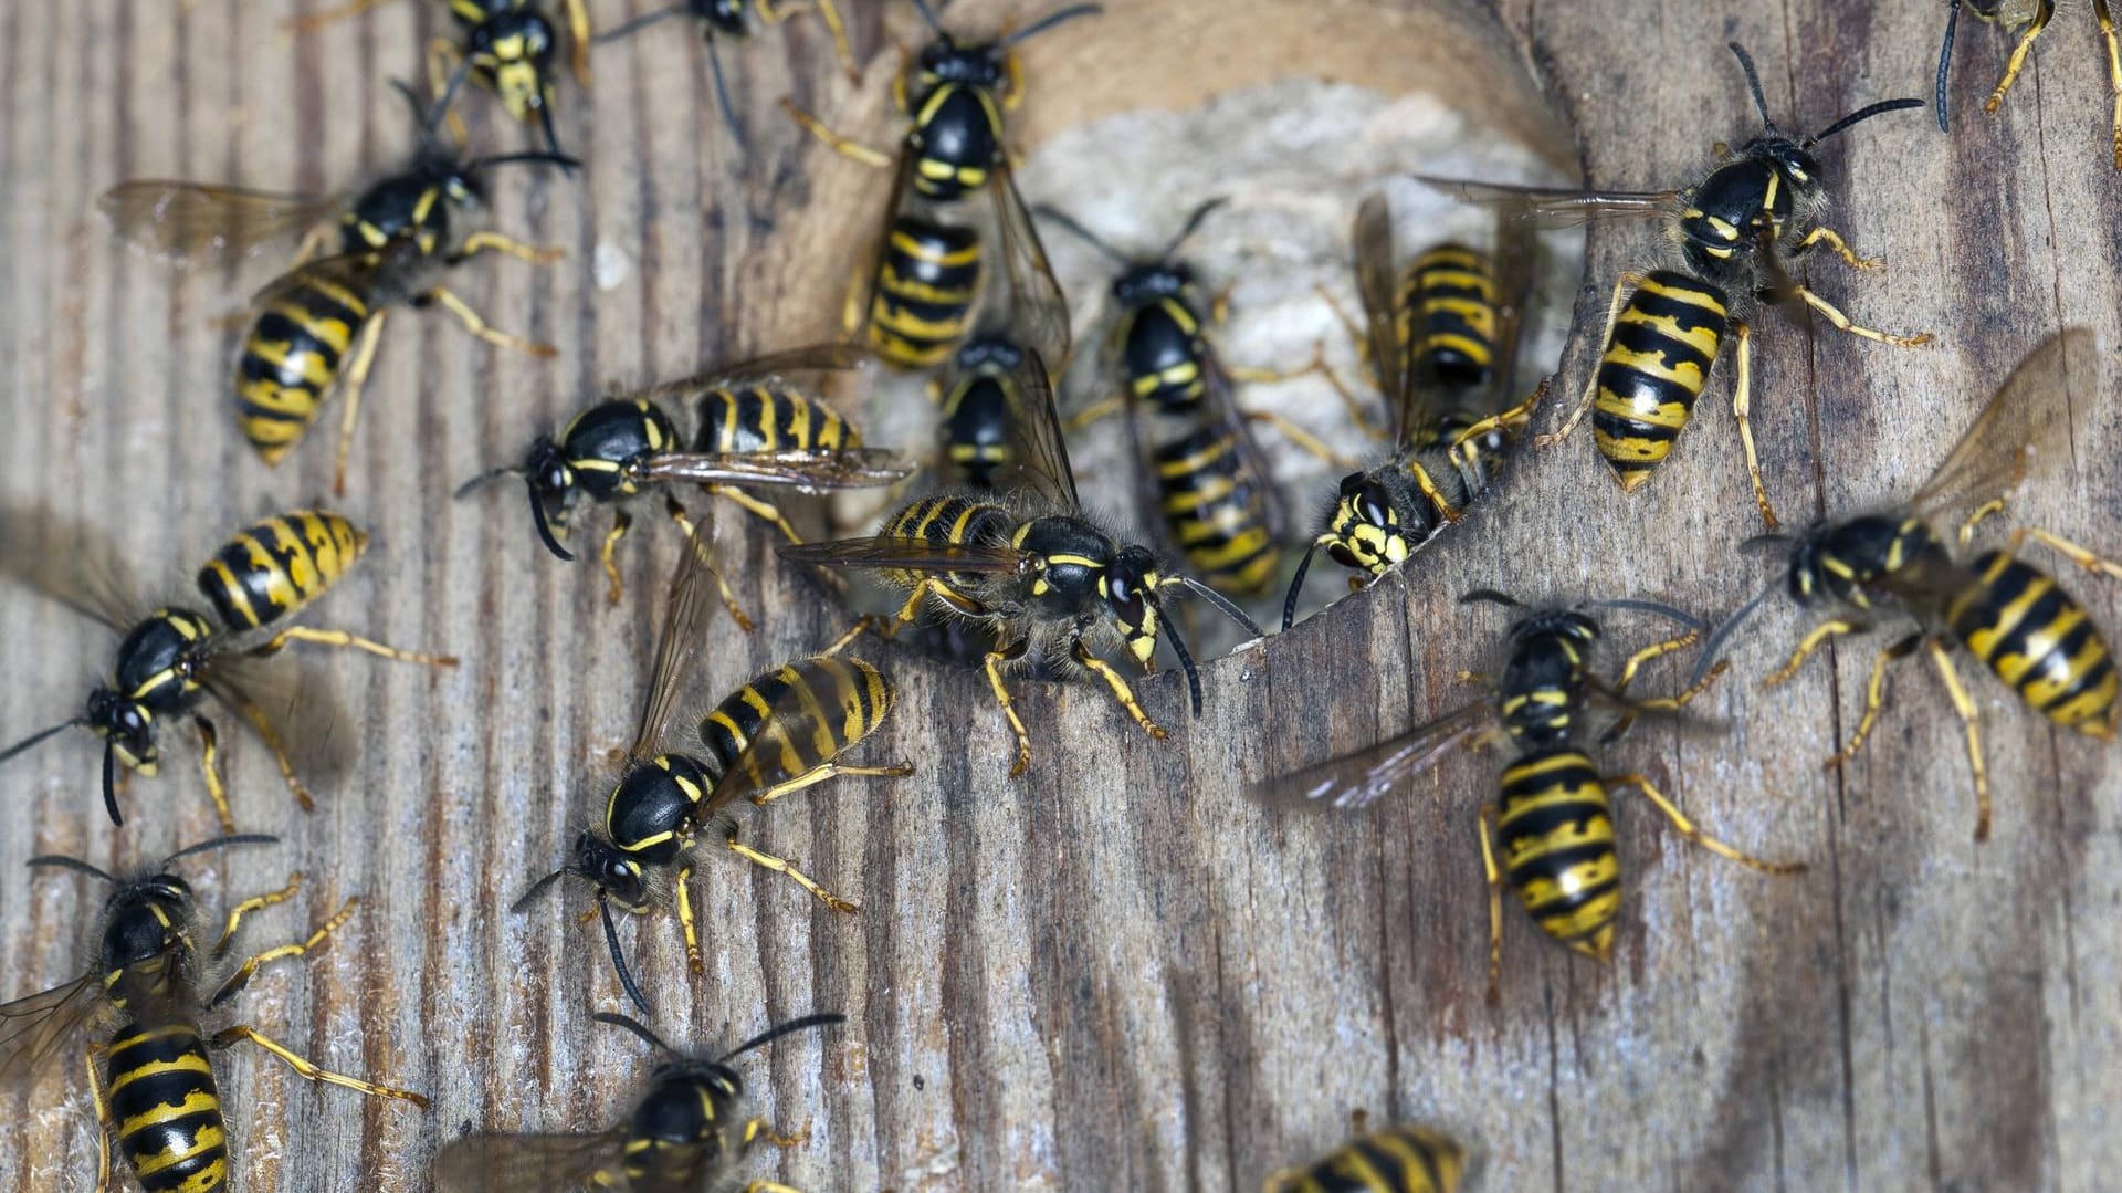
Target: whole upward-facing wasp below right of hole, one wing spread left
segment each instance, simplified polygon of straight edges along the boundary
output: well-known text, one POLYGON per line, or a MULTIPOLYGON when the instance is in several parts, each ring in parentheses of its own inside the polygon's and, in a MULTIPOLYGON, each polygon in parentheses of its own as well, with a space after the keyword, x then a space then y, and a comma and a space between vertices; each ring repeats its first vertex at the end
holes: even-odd
POLYGON ((1606 775, 1587 749, 1583 730, 1594 705, 1621 709, 1621 717, 1598 739, 1611 743, 1642 713, 1683 709, 1725 671, 1725 664, 1717 664, 1674 696, 1628 696, 1647 662, 1702 641, 1706 626, 1698 618, 1651 601, 1524 609, 1515 599, 1492 590, 1468 592, 1460 603, 1519 609, 1507 635, 1500 675, 1462 673, 1462 679, 1485 681, 1490 690, 1401 737, 1277 779, 1269 783, 1269 794, 1362 809, 1460 747, 1507 747, 1496 805, 1479 813, 1481 866, 1490 892, 1490 1002, 1500 998, 1504 883, 1541 932, 1577 953, 1606 959, 1621 915, 1621 855, 1615 851, 1608 815, 1611 794, 1617 790, 1640 792, 1672 822, 1674 832, 1721 858, 1770 875, 1804 870, 1799 864, 1763 862, 1704 834, 1645 775, 1606 775), (1600 607, 1645 611, 1687 628, 1634 652, 1613 679, 1604 679, 1594 671, 1594 647, 1604 630, 1587 611, 1600 607))

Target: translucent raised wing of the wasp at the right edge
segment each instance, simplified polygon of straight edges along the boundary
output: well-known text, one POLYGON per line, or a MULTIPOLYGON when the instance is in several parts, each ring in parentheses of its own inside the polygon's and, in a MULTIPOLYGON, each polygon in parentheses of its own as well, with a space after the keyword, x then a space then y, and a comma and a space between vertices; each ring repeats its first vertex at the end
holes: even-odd
POLYGON ((1910 505, 1925 516, 1967 512, 2010 497, 2033 467, 2063 454, 2065 395, 2097 395, 2094 335, 2071 327, 2035 348, 1952 446, 1910 505))

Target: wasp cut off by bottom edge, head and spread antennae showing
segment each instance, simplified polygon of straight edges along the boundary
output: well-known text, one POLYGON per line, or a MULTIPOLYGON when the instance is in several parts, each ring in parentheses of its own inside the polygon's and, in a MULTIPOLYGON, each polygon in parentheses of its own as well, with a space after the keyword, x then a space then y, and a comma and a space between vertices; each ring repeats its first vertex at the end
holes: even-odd
MULTIPOLYGON (((624 1027, 668 1059, 624 1123, 607 1131, 469 1136, 435 1157, 441 1193, 516 1193, 520 1189, 624 1189, 626 1193, 700 1193, 753 1146, 792 1148, 808 1131, 783 1136, 762 1117, 743 1119, 745 1080, 736 1057, 783 1036, 845 1023, 845 1015, 804 1015, 777 1023, 715 1059, 679 1053, 624 1015, 594 1015, 624 1027)), ((745 1193, 798 1193, 775 1180, 753 1180, 745 1193)))

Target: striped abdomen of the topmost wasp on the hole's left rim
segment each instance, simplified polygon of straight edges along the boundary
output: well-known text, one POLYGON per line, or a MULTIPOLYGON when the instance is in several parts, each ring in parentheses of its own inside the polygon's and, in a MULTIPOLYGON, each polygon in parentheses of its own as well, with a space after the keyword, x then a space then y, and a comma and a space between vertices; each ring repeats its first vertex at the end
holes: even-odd
POLYGON ((895 219, 876 261, 870 350, 902 369, 944 363, 972 327, 978 289, 978 231, 921 217, 895 219))

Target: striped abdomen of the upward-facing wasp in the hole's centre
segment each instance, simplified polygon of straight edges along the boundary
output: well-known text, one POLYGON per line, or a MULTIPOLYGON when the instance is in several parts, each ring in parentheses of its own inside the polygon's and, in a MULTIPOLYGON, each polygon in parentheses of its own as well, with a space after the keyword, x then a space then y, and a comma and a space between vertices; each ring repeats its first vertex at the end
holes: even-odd
POLYGON ((1282 565, 1258 480, 1229 427, 1201 427, 1156 448, 1152 467, 1186 567, 1224 592, 1263 592, 1282 565))

